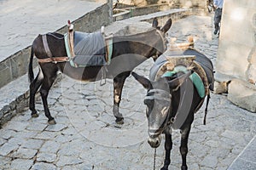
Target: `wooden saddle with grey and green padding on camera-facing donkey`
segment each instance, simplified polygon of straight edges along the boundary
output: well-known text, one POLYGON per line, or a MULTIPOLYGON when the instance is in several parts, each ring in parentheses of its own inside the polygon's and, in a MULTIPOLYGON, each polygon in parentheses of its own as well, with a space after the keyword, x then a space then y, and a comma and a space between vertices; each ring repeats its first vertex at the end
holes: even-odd
POLYGON ((149 79, 155 81, 160 77, 171 77, 177 71, 185 72, 188 68, 193 68, 195 72, 189 78, 198 94, 204 98, 209 94, 209 89, 213 91, 212 61, 195 48, 191 48, 190 42, 178 47, 182 48, 171 48, 156 59, 149 79))

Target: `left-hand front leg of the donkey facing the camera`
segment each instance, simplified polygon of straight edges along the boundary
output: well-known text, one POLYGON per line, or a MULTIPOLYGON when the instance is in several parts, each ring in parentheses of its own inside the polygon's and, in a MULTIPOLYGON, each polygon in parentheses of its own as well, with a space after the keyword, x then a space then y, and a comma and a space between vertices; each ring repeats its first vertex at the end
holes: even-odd
POLYGON ((171 163, 172 132, 169 127, 166 128, 165 134, 166 134, 166 142, 165 142, 166 159, 165 159, 164 167, 162 167, 161 170, 168 170, 168 167, 171 163))

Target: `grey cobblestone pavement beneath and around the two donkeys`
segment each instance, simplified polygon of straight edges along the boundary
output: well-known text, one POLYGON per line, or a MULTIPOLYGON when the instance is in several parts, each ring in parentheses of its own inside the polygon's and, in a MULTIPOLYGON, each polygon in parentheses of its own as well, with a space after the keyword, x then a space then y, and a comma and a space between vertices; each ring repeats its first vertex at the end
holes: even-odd
MULTIPOLYGON (((169 37, 184 42, 195 37, 195 48, 215 63, 218 38, 212 38, 212 18, 189 16, 173 23, 169 37)), ((135 71, 148 75, 153 60, 135 71)), ((112 115, 113 81, 76 82, 62 76, 49 93, 49 109, 56 125, 48 125, 41 100, 38 118, 30 111, 15 116, 0 129, 1 169, 153 169, 154 150, 147 143, 145 90, 133 77, 125 82, 120 111, 125 124, 118 126, 112 115)), ((189 169, 227 169, 256 134, 252 113, 232 105, 225 95, 212 94, 207 126, 203 110, 195 115, 189 136, 189 169)), ((179 132, 173 132, 172 163, 179 169, 179 132)), ((156 167, 164 161, 164 142, 156 150, 156 167)))

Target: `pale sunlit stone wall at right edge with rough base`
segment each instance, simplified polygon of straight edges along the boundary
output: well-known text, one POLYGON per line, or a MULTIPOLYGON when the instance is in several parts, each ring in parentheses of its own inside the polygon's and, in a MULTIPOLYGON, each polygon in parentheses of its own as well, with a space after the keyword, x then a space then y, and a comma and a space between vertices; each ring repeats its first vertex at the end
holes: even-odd
POLYGON ((256 112, 256 96, 253 97, 256 95, 255 0, 224 1, 216 69, 218 82, 231 81, 227 88, 229 99, 256 112))

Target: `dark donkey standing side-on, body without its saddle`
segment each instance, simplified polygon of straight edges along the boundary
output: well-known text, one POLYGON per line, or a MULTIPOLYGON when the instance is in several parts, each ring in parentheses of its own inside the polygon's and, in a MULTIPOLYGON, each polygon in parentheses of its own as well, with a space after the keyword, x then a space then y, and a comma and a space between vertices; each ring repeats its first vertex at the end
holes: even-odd
MULTIPOLYGON (((113 115, 117 123, 123 123, 123 116, 119 113, 119 103, 121 100, 122 88, 125 78, 129 77, 131 71, 145 59, 154 57, 156 59, 166 48, 166 31, 172 26, 172 20, 167 20, 166 25, 158 27, 158 21, 153 20, 153 29, 143 33, 130 36, 113 36, 113 53, 109 65, 104 66, 84 66, 73 67, 69 61, 61 61, 63 56, 67 56, 64 36, 58 33, 46 34, 48 49, 45 48, 43 37, 39 35, 32 43, 32 52, 29 63, 30 79, 30 102, 29 108, 32 117, 37 117, 35 109, 35 94, 40 88, 41 98, 44 104, 44 113, 48 117, 49 124, 55 124, 55 119, 50 115, 47 96, 51 88, 57 71, 61 71, 68 77, 80 81, 95 82, 99 80, 98 75, 106 73, 106 78, 113 78, 113 115), (51 58, 49 58, 49 52, 51 58), (36 56, 39 63, 38 76, 34 79, 32 71, 33 56, 36 56), (40 62, 41 61, 41 62, 40 62)), ((45 37, 45 36, 44 36, 45 37)), ((96 52, 95 52, 96 53, 96 52)))

